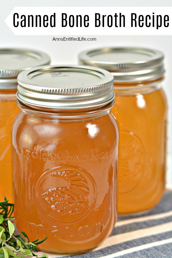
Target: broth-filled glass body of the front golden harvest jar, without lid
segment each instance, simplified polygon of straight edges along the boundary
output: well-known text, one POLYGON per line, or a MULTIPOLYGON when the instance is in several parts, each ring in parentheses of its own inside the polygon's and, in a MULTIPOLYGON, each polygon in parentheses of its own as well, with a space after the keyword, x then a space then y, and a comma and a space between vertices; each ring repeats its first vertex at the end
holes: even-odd
POLYGON ((30 239, 48 236, 41 251, 80 253, 99 245, 116 221, 114 116, 74 122, 20 112, 12 144, 18 230, 30 239))

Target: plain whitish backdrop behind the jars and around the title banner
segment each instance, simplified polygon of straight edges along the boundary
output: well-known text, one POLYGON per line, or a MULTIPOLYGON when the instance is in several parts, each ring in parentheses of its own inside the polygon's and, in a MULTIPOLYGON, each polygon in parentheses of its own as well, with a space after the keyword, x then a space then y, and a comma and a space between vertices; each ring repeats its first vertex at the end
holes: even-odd
MULTIPOLYGON (((171 0, 0 0, 0 47, 25 47, 45 51, 52 64, 77 64, 82 50, 102 46, 140 46, 159 49, 165 54, 164 84, 169 105, 167 187, 172 187, 172 36, 95 36, 96 42, 56 42, 53 36, 15 36, 5 19, 16 6, 172 6, 171 0)), ((172 22, 172 21, 171 21, 172 22)), ((67 35, 64 35, 67 36, 67 35)), ((83 35, 84 36, 84 35, 83 35)), ((54 37, 60 37, 58 34, 54 37)), ((86 38, 89 36, 86 36, 86 38)), ((93 37, 93 36, 90 36, 93 37)))

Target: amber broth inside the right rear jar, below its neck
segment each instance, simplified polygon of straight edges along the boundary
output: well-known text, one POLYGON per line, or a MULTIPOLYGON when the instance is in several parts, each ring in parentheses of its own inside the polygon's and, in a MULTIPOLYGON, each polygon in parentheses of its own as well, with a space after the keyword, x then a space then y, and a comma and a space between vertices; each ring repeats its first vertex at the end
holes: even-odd
POLYGON ((116 95, 112 112, 120 130, 118 213, 149 210, 160 201, 165 186, 165 93, 159 89, 116 95))

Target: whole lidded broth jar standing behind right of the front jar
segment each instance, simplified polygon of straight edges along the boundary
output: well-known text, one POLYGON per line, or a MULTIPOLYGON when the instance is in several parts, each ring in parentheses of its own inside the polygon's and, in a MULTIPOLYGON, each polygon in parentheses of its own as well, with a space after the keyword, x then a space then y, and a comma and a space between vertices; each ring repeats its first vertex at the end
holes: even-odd
POLYGON ((103 48, 82 52, 79 60, 114 75, 112 112, 120 131, 118 213, 149 210, 161 200, 165 187, 163 53, 134 47, 103 48))

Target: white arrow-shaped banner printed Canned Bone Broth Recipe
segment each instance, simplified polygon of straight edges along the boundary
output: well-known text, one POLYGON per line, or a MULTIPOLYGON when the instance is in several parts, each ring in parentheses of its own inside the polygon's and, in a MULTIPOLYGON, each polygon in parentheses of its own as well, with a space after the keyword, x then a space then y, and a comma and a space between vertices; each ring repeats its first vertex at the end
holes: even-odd
POLYGON ((171 35, 172 7, 15 7, 15 35, 171 35))

